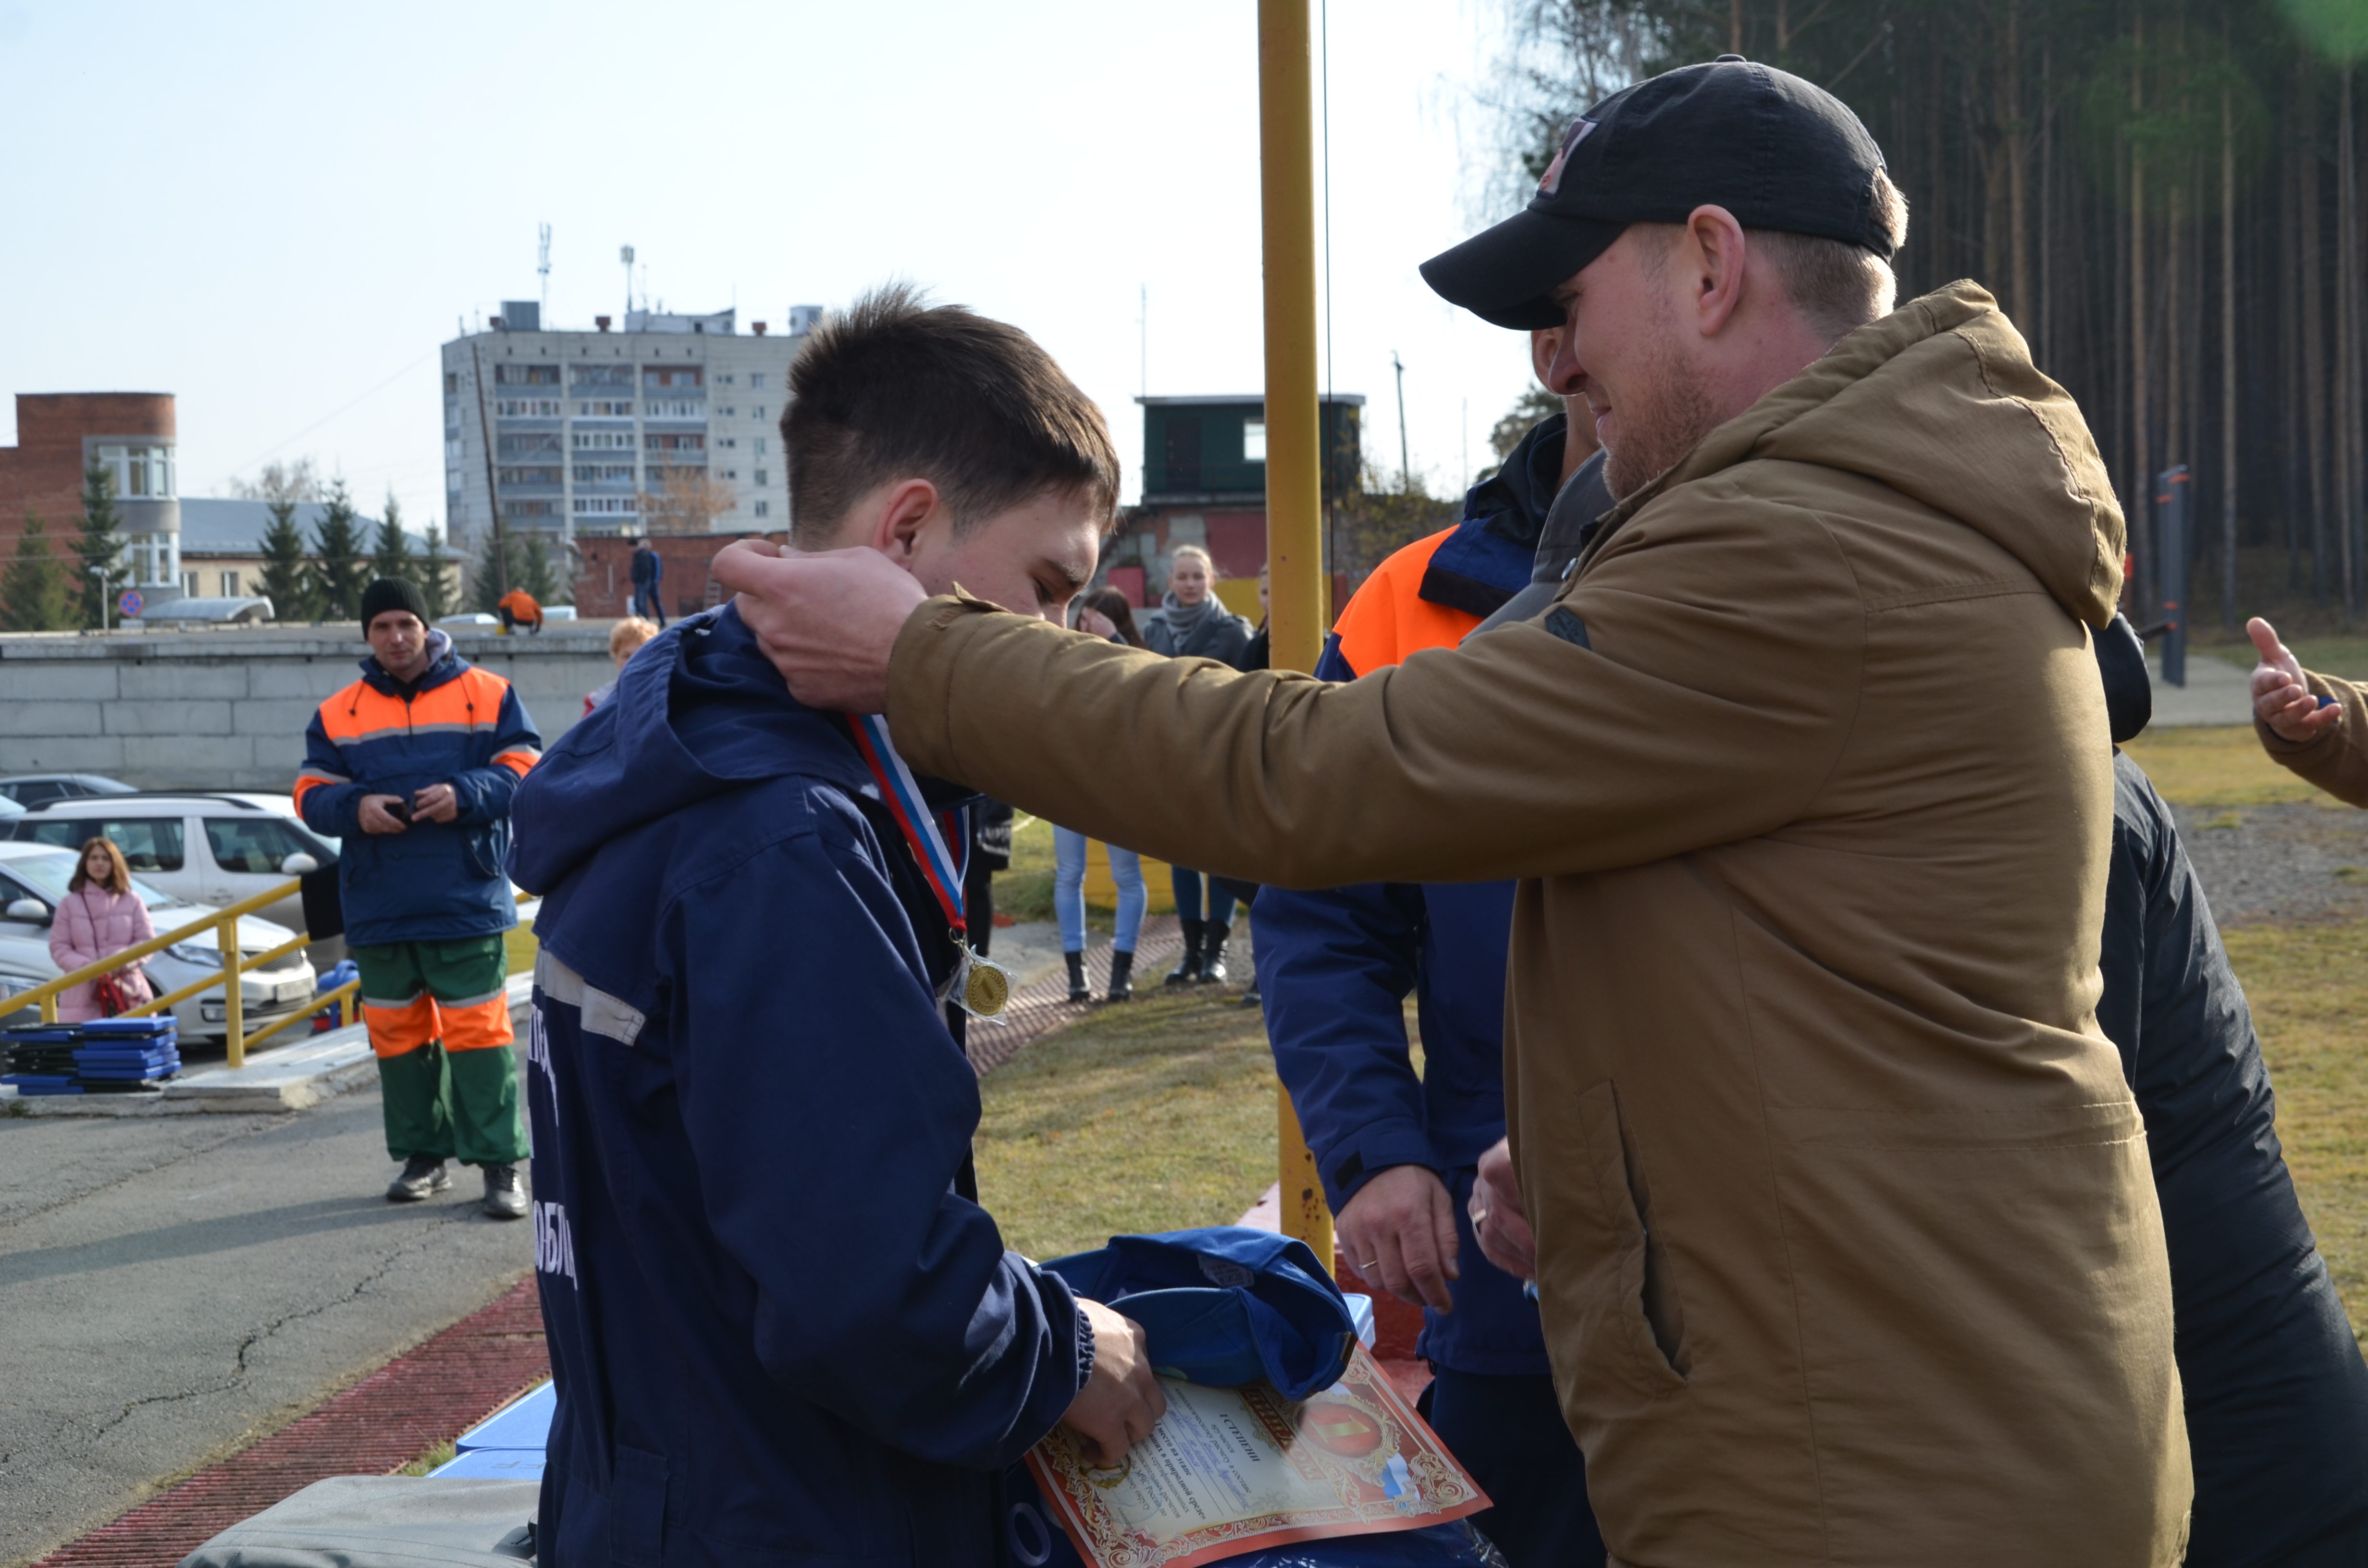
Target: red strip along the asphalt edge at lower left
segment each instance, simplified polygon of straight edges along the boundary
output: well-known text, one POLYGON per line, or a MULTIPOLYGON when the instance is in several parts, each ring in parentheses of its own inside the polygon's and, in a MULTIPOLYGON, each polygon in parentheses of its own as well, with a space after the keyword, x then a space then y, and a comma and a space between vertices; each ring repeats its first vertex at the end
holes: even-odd
POLYGON ((341 1395, 33 1568, 173 1568, 230 1525, 329 1476, 384 1476, 552 1376, 533 1277, 341 1395))

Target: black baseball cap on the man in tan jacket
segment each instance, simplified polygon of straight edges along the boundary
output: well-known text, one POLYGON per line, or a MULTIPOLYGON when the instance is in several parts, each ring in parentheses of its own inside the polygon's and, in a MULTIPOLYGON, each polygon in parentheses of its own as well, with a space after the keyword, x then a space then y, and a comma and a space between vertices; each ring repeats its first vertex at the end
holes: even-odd
POLYGON ((1447 301, 1516 329, 1561 327, 1556 287, 1632 223, 1724 206, 1743 227, 1819 234, 1885 261, 1883 149, 1842 99, 1740 54, 1613 92, 1570 123, 1530 206, 1423 263, 1447 301))

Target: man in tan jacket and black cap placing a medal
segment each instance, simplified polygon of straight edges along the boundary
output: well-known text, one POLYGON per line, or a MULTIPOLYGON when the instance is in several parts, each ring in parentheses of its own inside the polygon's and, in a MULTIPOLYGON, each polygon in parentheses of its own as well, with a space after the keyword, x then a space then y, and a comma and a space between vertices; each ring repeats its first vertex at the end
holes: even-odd
POLYGON ((803 701, 1023 810, 1283 886, 1523 879, 1513 1163, 1622 1563, 2183 1547, 2162 1222, 2093 1018, 2122 516, 1982 289, 1890 310, 1902 230, 1781 71, 1591 109, 1426 275, 1561 313, 1620 505, 1537 621, 1366 680, 715 564, 803 701))

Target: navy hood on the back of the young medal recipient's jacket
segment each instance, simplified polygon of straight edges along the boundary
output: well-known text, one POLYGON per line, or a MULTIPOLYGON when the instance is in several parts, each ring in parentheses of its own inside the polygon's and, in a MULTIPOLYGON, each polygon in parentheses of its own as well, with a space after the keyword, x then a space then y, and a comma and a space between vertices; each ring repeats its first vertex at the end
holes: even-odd
POLYGON ((734 606, 677 621, 526 775, 509 874, 547 893, 644 822, 786 775, 876 793, 838 722, 781 687, 734 606))

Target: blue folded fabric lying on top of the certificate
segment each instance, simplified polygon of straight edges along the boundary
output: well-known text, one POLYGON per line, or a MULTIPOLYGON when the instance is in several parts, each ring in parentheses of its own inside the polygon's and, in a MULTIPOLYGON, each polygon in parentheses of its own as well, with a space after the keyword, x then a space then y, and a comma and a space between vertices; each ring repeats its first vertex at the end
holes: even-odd
POLYGON ((1286 1400, 1347 1371, 1357 1324, 1305 1241, 1241 1225, 1111 1236, 1044 1265, 1144 1326, 1151 1367, 1212 1388, 1267 1379, 1286 1400))

